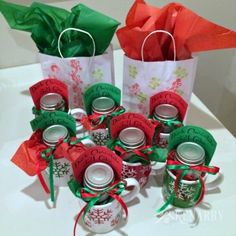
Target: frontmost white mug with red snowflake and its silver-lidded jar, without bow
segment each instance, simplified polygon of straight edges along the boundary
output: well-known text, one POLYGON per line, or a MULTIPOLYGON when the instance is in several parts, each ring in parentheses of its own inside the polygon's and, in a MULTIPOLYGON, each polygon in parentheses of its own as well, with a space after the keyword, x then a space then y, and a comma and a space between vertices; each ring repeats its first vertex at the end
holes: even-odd
MULTIPOLYGON (((84 187, 98 194, 108 188, 109 185, 112 185, 114 180, 115 175, 112 167, 103 162, 95 162, 89 165, 83 176, 84 187)), ((119 182, 119 179, 116 179, 116 181, 119 182)), ((140 186, 134 178, 127 178, 124 182, 125 189, 120 193, 119 197, 126 203, 137 196, 140 186)), ((82 200, 86 201, 83 198, 82 200)), ((84 215, 82 222, 93 233, 110 232, 120 224, 123 218, 122 207, 123 205, 120 201, 109 198, 109 194, 104 193, 98 202, 84 215)))

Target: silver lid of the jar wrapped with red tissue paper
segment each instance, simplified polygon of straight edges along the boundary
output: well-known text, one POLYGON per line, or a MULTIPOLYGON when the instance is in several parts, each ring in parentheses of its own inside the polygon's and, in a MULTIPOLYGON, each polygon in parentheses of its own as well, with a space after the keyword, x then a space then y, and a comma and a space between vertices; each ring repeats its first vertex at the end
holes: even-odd
POLYGON ((48 146, 55 146, 59 139, 65 139, 69 135, 63 125, 51 125, 43 131, 43 142, 48 146))

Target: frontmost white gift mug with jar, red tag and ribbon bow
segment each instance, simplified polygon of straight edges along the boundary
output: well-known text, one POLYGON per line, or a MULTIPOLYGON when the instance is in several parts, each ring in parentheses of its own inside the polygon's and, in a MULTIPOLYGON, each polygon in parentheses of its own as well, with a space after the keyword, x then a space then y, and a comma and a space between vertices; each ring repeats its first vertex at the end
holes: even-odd
POLYGON ((140 187, 133 178, 121 180, 122 160, 105 147, 86 150, 73 163, 75 179, 69 187, 76 197, 83 200, 74 225, 81 217, 85 227, 94 233, 107 233, 119 225, 123 211, 127 217, 126 202, 137 196, 140 187), (131 191, 126 191, 132 187, 131 191))

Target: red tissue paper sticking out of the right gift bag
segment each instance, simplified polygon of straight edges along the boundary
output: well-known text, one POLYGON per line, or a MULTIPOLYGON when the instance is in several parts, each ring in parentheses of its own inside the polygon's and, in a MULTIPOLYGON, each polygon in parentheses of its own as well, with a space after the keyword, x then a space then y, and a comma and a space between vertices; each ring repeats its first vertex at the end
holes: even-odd
MULTIPOLYGON (((142 43, 155 30, 173 35, 177 60, 189 59, 195 52, 236 47, 235 31, 216 25, 181 4, 170 3, 157 8, 136 0, 127 15, 126 25, 117 31, 126 56, 141 60, 142 43)), ((153 34, 144 46, 145 61, 173 60, 173 55, 173 44, 167 34, 153 34)))

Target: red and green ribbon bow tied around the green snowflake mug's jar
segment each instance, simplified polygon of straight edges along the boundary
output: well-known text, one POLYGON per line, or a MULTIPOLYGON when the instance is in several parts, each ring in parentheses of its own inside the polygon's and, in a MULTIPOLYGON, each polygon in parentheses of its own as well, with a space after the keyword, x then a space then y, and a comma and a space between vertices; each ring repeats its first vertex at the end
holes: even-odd
POLYGON ((170 154, 168 156, 166 169, 168 169, 168 170, 182 170, 182 172, 176 174, 176 179, 175 179, 175 183, 174 183, 174 191, 169 196, 169 198, 166 200, 164 205, 157 210, 157 213, 161 213, 163 210, 166 209, 166 207, 169 204, 172 204, 175 197, 178 198, 179 185, 180 185, 181 181, 184 179, 184 177, 187 177, 187 175, 189 174, 190 171, 196 173, 196 175, 195 175, 196 181, 198 180, 198 187, 201 189, 200 195, 196 194, 194 196, 194 202, 196 202, 195 205, 198 205, 202 201, 204 194, 205 194, 205 182, 203 180, 202 173, 208 173, 208 174, 215 175, 220 170, 220 168, 216 167, 216 166, 204 166, 204 165, 187 166, 187 165, 180 163, 179 161, 173 160, 174 156, 175 156, 175 150, 170 152, 170 154))

